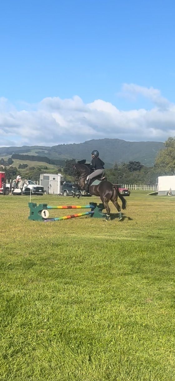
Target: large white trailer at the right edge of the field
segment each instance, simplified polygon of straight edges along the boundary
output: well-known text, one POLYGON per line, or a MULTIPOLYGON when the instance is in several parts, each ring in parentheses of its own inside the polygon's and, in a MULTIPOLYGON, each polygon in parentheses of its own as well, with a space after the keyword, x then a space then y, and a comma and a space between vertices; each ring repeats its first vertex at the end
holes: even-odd
POLYGON ((174 196, 175 195, 175 176, 159 176, 158 177, 158 195, 174 196))

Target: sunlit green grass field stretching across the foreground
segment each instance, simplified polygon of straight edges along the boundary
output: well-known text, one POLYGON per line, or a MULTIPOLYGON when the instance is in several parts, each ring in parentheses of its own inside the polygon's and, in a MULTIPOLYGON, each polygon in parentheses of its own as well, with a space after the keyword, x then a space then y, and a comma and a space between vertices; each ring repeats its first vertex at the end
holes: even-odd
POLYGON ((122 222, 44 224, 0 196, 0 380, 175 380, 175 198, 126 200, 122 222))

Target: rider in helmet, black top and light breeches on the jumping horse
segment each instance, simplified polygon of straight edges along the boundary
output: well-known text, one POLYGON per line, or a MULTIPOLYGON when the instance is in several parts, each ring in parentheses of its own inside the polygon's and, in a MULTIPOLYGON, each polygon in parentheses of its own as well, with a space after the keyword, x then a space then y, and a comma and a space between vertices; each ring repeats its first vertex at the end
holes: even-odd
POLYGON ((99 152, 95 149, 92 151, 91 155, 92 155, 92 161, 91 161, 90 168, 94 168, 95 171, 90 173, 87 176, 86 186, 85 186, 86 192, 89 191, 89 184, 90 184, 91 179, 93 179, 94 177, 98 177, 100 175, 104 176, 104 174, 105 174, 104 162, 102 162, 102 160, 99 158, 99 152))

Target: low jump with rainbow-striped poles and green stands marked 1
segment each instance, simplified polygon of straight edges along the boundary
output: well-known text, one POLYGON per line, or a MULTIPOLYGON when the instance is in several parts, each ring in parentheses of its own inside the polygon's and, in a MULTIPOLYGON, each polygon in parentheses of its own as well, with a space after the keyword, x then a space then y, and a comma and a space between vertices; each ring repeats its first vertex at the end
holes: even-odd
POLYGON ((50 206, 47 204, 35 204, 32 202, 28 203, 30 208, 30 216, 28 219, 32 221, 43 221, 43 222, 54 222, 54 221, 62 221, 63 219, 71 219, 82 216, 90 216, 95 218, 104 218, 106 215, 102 213, 104 206, 102 204, 97 205, 94 202, 89 203, 89 205, 58 205, 58 206, 50 206), (90 209, 90 211, 86 211, 83 213, 76 213, 69 216, 62 217, 54 217, 49 218, 49 210, 50 209, 90 209))

